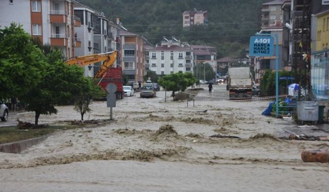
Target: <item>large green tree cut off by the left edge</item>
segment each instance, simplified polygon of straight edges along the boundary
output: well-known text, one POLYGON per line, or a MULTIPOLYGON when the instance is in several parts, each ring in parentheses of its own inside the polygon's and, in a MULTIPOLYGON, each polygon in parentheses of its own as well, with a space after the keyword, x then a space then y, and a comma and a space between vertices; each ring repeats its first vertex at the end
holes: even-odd
POLYGON ((0 99, 25 95, 40 82, 46 65, 22 26, 0 29, 0 99))

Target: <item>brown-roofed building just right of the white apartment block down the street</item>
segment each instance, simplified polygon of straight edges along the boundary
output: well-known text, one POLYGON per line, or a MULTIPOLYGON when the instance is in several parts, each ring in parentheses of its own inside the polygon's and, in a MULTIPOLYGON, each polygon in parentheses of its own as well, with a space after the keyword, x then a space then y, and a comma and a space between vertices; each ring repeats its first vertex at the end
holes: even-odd
POLYGON ((215 73, 217 73, 217 49, 206 45, 191 45, 194 55, 194 64, 209 63, 215 73))

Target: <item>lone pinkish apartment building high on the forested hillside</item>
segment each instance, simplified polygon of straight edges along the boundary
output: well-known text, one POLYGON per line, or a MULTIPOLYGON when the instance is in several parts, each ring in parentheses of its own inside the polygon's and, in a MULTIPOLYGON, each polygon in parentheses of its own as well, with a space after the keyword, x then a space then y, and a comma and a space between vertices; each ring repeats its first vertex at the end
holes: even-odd
POLYGON ((190 27, 192 25, 207 25, 207 11, 185 11, 183 15, 183 27, 190 27))

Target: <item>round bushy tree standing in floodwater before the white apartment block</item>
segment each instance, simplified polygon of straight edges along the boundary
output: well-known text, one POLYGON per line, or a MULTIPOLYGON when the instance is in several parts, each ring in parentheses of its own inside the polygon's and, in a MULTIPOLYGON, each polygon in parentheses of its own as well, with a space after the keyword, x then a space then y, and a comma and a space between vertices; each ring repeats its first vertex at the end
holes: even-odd
POLYGON ((163 88, 167 88, 167 91, 172 91, 172 95, 175 99, 176 91, 185 91, 188 87, 193 86, 195 83, 195 77, 191 73, 173 73, 159 78, 159 84, 163 88))

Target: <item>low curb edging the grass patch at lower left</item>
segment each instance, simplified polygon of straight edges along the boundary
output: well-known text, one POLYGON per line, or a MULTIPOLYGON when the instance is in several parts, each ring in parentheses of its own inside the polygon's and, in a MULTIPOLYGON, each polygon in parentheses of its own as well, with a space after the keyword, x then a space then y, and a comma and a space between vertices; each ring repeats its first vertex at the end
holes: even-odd
POLYGON ((49 135, 37 137, 37 138, 25 139, 17 142, 0 144, 0 152, 21 153, 26 148, 44 141, 48 136, 49 135))

